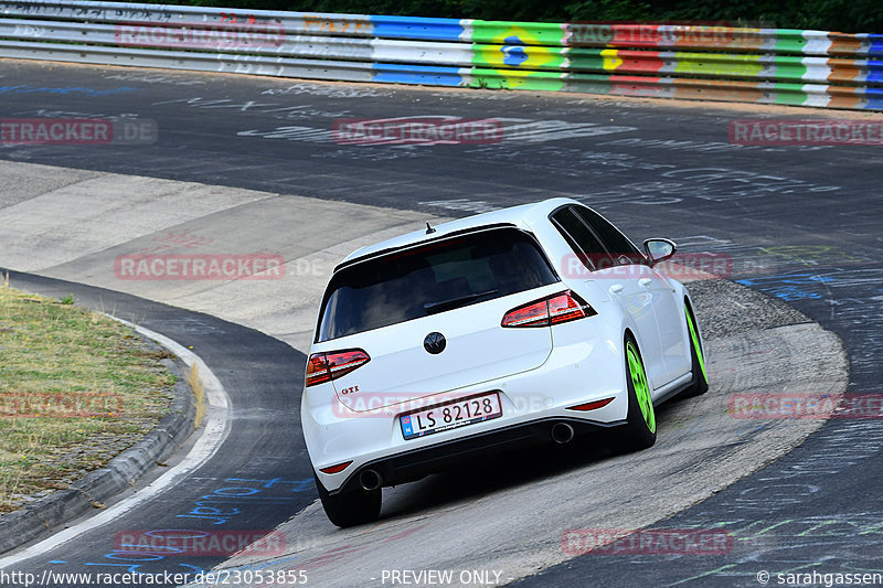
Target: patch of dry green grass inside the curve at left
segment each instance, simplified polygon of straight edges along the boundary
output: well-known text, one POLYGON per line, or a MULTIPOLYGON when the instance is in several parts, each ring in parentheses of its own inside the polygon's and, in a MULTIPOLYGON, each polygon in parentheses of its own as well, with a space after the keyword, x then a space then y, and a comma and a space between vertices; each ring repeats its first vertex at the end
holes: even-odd
POLYGON ((0 280, 0 513, 100 468, 168 411, 166 352, 0 280))

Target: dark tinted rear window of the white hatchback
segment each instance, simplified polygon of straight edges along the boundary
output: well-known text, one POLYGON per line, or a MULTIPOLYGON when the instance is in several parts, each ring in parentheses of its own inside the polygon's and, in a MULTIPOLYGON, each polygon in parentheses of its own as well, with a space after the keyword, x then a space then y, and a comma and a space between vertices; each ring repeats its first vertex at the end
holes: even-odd
POLYGON ((341 268, 316 341, 380 329, 558 281, 536 240, 492 228, 341 268))

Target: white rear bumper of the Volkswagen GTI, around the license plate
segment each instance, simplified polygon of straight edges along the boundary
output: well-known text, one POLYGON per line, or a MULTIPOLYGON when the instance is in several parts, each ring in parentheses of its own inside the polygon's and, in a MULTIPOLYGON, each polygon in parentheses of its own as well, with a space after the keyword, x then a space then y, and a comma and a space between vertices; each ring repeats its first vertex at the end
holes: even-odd
MULTIPOLYGON (((538 368, 422 396, 419 402, 425 406, 439 397, 447 400, 497 392, 503 413, 491 420, 425 437, 403 437, 400 416, 415 408, 413 404, 357 413, 343 406, 330 386, 308 388, 301 399, 300 420, 317 479, 333 493, 358 480, 358 472, 374 466, 384 485, 391 485, 453 462, 462 463, 464 455, 487 451, 488 446, 544 442, 555 421, 573 421, 575 431, 624 421, 628 398, 623 351, 617 344, 621 335, 605 336, 603 321, 593 323, 594 331, 587 332, 584 322, 557 325, 554 350, 538 368), (570 408, 606 398, 614 400, 591 411, 570 408), (347 462, 350 464, 338 473, 321 471, 347 462)), ((620 327, 613 332, 619 333, 620 327)))

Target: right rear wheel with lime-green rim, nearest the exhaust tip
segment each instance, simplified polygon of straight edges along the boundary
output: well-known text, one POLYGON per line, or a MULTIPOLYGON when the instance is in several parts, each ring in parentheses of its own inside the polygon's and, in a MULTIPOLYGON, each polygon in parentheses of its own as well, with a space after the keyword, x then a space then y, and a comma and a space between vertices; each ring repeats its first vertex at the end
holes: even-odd
POLYGON ((656 411, 650 397, 650 385, 643 370, 638 344, 631 336, 625 339, 626 388, 628 415, 626 424, 613 431, 610 449, 614 453, 630 453, 647 449, 656 442, 656 411))

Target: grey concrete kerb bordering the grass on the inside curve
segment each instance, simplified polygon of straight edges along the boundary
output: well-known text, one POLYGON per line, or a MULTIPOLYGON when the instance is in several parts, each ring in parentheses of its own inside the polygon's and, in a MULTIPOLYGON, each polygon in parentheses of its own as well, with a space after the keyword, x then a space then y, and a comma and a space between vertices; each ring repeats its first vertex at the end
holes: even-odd
POLYGON ((8 553, 54 528, 86 514, 104 509, 104 502, 129 490, 147 472, 178 451, 194 430, 196 407, 194 394, 184 377, 187 364, 174 350, 150 338, 147 330, 123 319, 123 322, 149 345, 174 354, 163 364, 177 376, 169 413, 132 447, 111 459, 106 467, 88 472, 66 490, 55 491, 19 511, 0 517, 0 554, 8 553))

